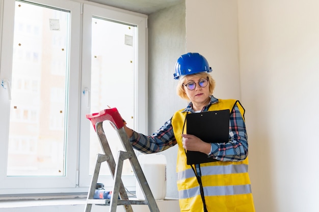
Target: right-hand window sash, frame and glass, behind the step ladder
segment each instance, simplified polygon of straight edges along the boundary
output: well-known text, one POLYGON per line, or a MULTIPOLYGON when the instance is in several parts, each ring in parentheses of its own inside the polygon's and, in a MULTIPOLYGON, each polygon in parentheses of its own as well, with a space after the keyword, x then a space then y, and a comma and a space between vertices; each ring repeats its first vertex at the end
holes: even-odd
MULTIPOLYGON (((81 118, 85 119, 85 114, 99 112, 108 106, 116 107, 129 126, 146 132, 145 18, 91 5, 84 5, 84 11, 83 27, 92 30, 83 34, 85 59, 82 65, 84 101, 81 118)), ((90 128, 90 133, 80 130, 83 141, 80 151, 90 149, 90 154, 80 158, 80 169, 92 174, 101 147, 89 120, 82 120, 81 123, 81 127, 90 128)), ((103 128, 116 157, 118 150, 123 149, 121 142, 111 125, 103 123, 103 128)), ((80 152, 80 155, 85 154, 80 152)), ((100 176, 99 182, 112 187, 107 163, 102 164, 100 173, 106 176, 100 176)), ((124 186, 135 187, 136 178, 132 176, 128 161, 125 161, 122 175, 125 175, 124 186)), ((90 175, 81 174, 79 177, 80 187, 90 183, 90 175)))

